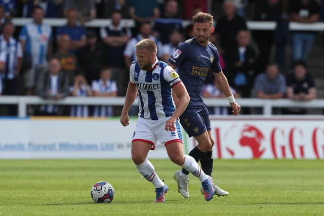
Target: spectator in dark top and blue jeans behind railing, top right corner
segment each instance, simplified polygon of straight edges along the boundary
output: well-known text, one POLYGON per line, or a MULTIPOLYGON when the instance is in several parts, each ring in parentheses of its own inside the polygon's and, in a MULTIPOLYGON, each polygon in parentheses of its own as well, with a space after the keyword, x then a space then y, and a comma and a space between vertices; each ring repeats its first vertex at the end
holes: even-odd
MULTIPOLYGON (((315 23, 319 19, 319 4, 316 0, 294 0, 289 3, 290 21, 315 23)), ((316 33, 294 31, 292 33, 292 60, 306 60, 316 33)))

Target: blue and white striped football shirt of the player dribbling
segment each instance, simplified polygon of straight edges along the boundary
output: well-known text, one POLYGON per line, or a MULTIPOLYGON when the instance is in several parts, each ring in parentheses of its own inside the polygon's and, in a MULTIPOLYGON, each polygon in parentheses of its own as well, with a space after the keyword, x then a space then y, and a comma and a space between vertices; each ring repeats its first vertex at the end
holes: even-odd
POLYGON ((151 71, 141 70, 137 61, 130 67, 130 83, 136 85, 139 117, 158 120, 175 110, 171 88, 180 83, 179 75, 165 62, 155 60, 151 71))

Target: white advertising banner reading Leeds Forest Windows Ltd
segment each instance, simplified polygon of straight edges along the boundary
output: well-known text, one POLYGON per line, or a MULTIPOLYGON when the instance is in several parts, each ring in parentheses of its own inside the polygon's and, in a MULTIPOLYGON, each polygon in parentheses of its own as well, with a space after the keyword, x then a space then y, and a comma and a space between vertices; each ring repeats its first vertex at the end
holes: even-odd
MULTIPOLYGON (((0 158, 131 158, 136 120, 0 119, 0 158)), ((150 158, 167 158, 155 145, 150 158)))

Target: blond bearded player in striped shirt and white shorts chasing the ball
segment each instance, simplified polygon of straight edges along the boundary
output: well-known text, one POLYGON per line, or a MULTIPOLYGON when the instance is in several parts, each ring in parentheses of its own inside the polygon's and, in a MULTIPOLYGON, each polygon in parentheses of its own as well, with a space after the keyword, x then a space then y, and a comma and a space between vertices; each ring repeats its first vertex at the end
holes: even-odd
POLYGON ((187 90, 179 75, 165 62, 157 60, 157 48, 153 40, 140 40, 135 48, 137 61, 132 62, 130 67, 130 82, 120 122, 124 126, 129 125, 128 112, 138 94, 139 118, 132 138, 132 159, 137 170, 154 185, 155 202, 165 202, 168 186, 159 179, 154 166, 147 159, 149 150, 154 150, 156 142, 159 141, 165 145, 172 162, 199 178, 205 199, 209 201, 214 195, 211 179, 193 157, 183 154, 178 118, 190 100, 187 90), (176 108, 171 89, 179 100, 176 108))

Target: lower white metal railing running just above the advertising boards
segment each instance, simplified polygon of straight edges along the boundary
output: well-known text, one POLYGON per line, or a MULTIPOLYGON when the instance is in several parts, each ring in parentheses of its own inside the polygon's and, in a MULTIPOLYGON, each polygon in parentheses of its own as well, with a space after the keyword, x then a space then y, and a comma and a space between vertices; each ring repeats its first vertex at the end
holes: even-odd
MULTIPOLYGON (((204 99, 207 106, 229 106, 226 99, 204 99)), ((18 116, 27 116, 27 105, 111 105, 123 106, 125 102, 124 97, 105 98, 105 97, 67 97, 63 100, 44 100, 37 96, 0 96, 0 104, 14 104, 18 105, 18 116)), ((134 105, 137 105, 136 99, 134 105)), ((294 107, 294 108, 324 108, 324 99, 316 99, 311 101, 292 101, 290 99, 256 99, 256 98, 241 98, 237 99, 237 103, 241 107, 262 107, 263 115, 271 116, 272 108, 275 107, 294 107)))

